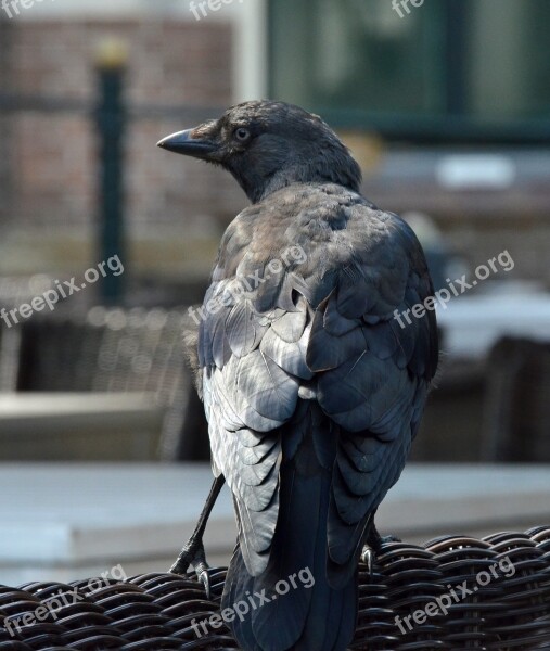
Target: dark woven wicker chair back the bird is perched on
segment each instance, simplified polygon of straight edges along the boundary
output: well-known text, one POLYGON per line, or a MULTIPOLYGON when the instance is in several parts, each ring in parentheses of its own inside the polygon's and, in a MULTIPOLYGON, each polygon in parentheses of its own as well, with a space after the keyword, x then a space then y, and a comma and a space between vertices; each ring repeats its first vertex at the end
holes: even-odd
MULTIPOLYGON (((223 576, 221 569, 213 572, 213 600, 192 577, 172 574, 145 574, 127 583, 101 578, 0 586, 0 650, 236 649, 227 629, 208 627, 209 634, 199 637, 192 626, 218 611, 223 576), (67 604, 60 604, 55 616, 52 607, 44 621, 36 622, 37 608, 60 595, 67 604), (35 623, 25 626, 25 613, 35 623)), ((360 567, 359 583, 353 649, 550 649, 549 526, 483 540, 445 537, 424 547, 386 544, 372 577, 360 567), (468 588, 468 596, 459 586, 468 588), (410 618, 407 625, 407 616, 417 612, 421 620, 422 609, 444 595, 452 602, 447 615, 439 611, 422 624, 410 618)))

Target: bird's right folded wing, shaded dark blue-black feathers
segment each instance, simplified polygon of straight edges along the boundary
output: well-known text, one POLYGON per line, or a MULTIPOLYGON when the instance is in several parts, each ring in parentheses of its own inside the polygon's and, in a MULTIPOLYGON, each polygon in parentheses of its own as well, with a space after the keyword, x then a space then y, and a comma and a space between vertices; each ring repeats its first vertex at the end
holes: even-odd
POLYGON ((417 238, 393 214, 354 212, 354 255, 316 310, 306 355, 319 405, 340 425, 328 525, 334 585, 354 571, 369 518, 401 473, 438 358, 433 303, 421 309, 433 286, 417 238), (404 317, 417 305, 420 318, 404 317))

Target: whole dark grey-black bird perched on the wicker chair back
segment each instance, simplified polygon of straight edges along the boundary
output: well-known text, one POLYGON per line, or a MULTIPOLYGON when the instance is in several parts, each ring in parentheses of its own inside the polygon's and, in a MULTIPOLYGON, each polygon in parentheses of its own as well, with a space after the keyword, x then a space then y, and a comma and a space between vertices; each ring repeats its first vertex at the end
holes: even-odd
POLYGON ((334 130, 293 104, 243 102, 158 145, 220 166, 251 202, 221 238, 186 335, 215 480, 172 571, 192 565, 208 587, 202 537, 227 482, 238 540, 221 613, 252 604, 227 617, 240 648, 347 649, 359 560, 384 540, 374 514, 437 368, 422 247, 361 194, 334 130), (306 570, 312 585, 289 583, 306 570))

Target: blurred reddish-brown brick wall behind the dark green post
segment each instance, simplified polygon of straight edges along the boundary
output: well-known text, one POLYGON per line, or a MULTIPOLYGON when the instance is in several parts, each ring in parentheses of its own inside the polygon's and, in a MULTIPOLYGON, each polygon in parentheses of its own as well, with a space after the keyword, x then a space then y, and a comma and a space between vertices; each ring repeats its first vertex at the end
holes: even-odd
MULTIPOLYGON (((91 105, 95 49, 102 39, 115 37, 124 39, 129 49, 126 92, 130 104, 222 107, 231 102, 230 24, 14 21, 10 31, 9 51, 2 53, 2 90, 81 99, 91 105)), ((0 243, 0 265, 4 267, 0 272, 74 268, 81 264, 82 255, 93 255, 93 125, 77 114, 29 112, 4 118, 4 130, 7 122, 13 192, 10 218, 4 219, 4 227, 9 225, 3 232, 4 246, 0 243), (33 248, 37 232, 42 246, 33 248), (49 252, 44 241, 50 242, 49 252)), ((223 225, 246 205, 227 174, 155 146, 163 136, 189 126, 193 125, 151 118, 135 120, 129 127, 127 218, 132 251, 141 260, 138 266, 157 264, 164 255, 164 241, 170 242, 171 248, 166 260, 159 260, 161 267, 164 261, 176 265, 188 248, 191 256, 196 250, 204 251, 209 265, 210 240, 218 238, 223 225), (158 242, 157 248, 153 245, 148 250, 144 242, 149 238, 158 242), (178 238, 181 241, 175 242, 178 238), (190 246, 195 240, 207 243, 205 247, 190 246)), ((7 174, 4 170, 4 177, 7 174)))

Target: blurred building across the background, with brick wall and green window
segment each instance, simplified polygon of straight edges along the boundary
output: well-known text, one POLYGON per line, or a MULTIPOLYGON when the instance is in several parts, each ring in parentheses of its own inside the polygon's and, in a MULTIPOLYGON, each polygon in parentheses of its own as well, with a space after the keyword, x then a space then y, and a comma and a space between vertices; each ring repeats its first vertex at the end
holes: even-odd
MULTIPOLYGON (((228 175, 154 144, 270 95, 347 137, 366 193, 430 214, 472 265, 513 239, 516 273, 548 280, 550 7, 536 0, 163 0, 8 4, 1 91, 93 105, 94 52, 128 48, 127 219, 135 270, 204 277, 223 225, 246 204, 228 175), (396 9, 394 9, 394 7, 396 9), (15 9, 18 10, 16 13, 15 9), (181 106, 181 118, 146 106, 181 106), (189 118, 187 118, 189 119, 189 118)), ((94 133, 78 112, 1 117, 0 272, 93 260, 94 133)))

